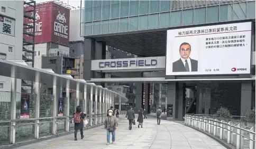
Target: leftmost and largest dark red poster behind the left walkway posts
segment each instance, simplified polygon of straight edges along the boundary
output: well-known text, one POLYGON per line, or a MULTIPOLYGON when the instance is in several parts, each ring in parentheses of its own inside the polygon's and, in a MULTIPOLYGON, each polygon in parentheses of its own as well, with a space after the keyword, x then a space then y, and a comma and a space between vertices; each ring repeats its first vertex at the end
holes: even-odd
POLYGON ((29 118, 30 95, 21 95, 21 119, 29 118))

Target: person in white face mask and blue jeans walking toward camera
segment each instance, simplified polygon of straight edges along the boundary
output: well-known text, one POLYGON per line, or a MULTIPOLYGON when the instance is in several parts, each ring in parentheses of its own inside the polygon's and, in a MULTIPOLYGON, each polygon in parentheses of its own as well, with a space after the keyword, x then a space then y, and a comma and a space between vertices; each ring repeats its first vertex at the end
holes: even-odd
POLYGON ((110 133, 112 134, 112 144, 115 142, 115 130, 117 129, 118 123, 113 115, 113 110, 108 110, 108 116, 105 119, 105 129, 107 130, 107 145, 110 143, 110 133))

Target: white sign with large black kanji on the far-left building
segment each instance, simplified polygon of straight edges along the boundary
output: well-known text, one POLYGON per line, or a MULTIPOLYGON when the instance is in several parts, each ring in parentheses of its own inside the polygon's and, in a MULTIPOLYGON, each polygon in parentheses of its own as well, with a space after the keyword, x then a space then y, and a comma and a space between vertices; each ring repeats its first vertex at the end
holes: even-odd
POLYGON ((15 36, 15 20, 0 15, 0 33, 15 36))

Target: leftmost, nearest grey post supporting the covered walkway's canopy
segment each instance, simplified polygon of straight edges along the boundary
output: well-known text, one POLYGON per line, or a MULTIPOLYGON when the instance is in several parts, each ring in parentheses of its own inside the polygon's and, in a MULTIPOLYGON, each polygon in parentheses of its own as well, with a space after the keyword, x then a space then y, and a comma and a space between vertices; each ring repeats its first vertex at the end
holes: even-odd
MULTIPOLYGON (((11 119, 16 119, 16 86, 17 79, 15 78, 15 67, 11 68, 11 119)), ((10 143, 15 143, 15 122, 11 122, 10 127, 10 143)))

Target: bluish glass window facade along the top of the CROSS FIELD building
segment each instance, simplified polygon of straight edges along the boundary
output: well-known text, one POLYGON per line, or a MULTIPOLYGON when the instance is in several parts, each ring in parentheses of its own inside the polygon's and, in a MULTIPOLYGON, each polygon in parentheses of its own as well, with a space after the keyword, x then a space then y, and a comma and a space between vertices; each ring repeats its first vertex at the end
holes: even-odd
POLYGON ((81 35, 255 18, 255 1, 85 1, 81 35))

